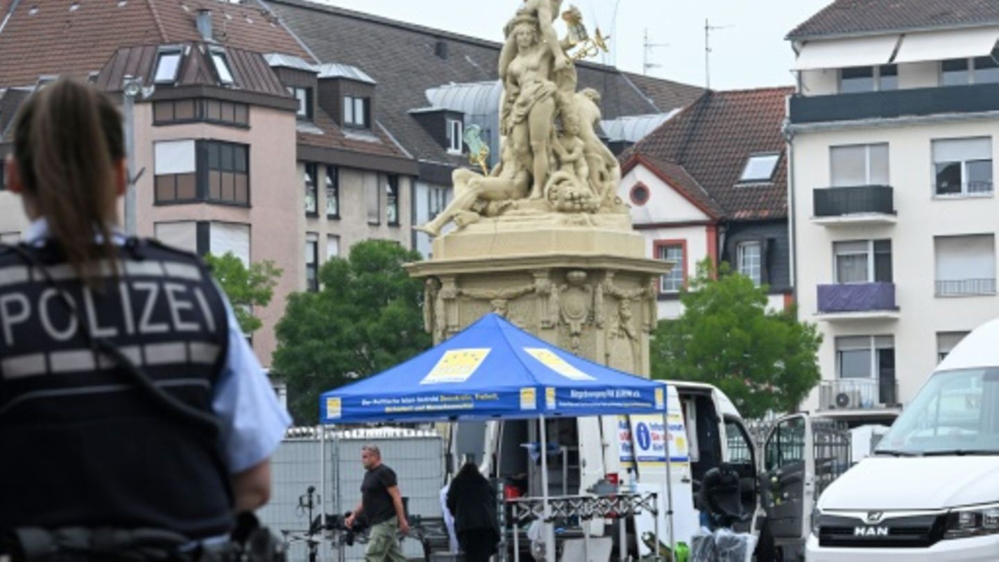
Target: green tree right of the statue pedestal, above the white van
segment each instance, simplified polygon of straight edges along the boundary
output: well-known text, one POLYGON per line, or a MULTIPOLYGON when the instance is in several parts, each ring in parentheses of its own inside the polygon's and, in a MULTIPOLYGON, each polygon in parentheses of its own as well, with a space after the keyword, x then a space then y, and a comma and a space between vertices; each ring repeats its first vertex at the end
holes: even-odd
POLYGON ((713 384, 746 418, 792 411, 818 384, 815 325, 798 322, 794 310, 768 312, 766 289, 728 264, 697 264, 680 302, 683 314, 656 327, 654 378, 713 384))

